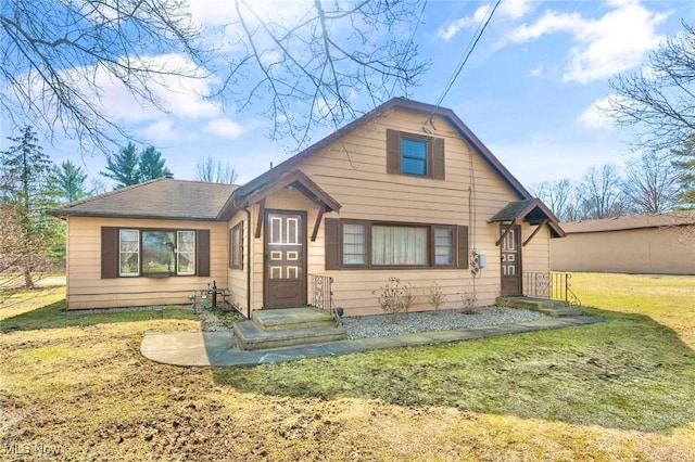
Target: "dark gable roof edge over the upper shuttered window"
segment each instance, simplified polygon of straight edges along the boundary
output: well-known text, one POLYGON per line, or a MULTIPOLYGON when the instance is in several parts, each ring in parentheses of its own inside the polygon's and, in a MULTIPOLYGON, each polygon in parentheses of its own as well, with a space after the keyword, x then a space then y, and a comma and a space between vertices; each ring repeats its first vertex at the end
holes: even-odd
MULTIPOLYGON (((375 110, 363 115, 362 117, 351 121, 344 127, 339 128, 317 143, 306 147, 304 151, 282 162, 277 167, 271 168, 270 170, 249 181, 247 184, 242 185, 235 192, 235 196, 247 197, 253 192, 271 184, 283 174, 292 170, 296 166, 296 164, 299 164, 303 159, 311 157, 315 153, 321 151, 323 149, 327 147, 334 141, 339 140, 340 138, 344 137, 362 125, 368 123, 369 120, 382 115, 388 111, 392 111, 395 108, 418 111, 426 116, 429 116, 431 114, 443 117, 458 131, 462 138, 464 138, 468 143, 472 145, 478 154, 480 154, 480 156, 493 168, 493 170, 495 170, 502 177, 502 179, 511 188, 511 190, 519 196, 520 200, 532 197, 531 194, 526 190, 526 188, 523 188, 523 185, 516 178, 514 178, 509 170, 507 170, 507 168, 502 165, 502 163, 492 154, 492 152, 490 152, 490 150, 482 143, 482 141, 480 141, 478 137, 476 137, 473 132, 470 131, 466 124, 464 124, 463 120, 459 119, 452 110, 434 106, 432 104, 420 103, 405 98, 393 98, 376 107, 375 110)), ((424 118, 424 121, 425 120, 426 118, 424 118)))

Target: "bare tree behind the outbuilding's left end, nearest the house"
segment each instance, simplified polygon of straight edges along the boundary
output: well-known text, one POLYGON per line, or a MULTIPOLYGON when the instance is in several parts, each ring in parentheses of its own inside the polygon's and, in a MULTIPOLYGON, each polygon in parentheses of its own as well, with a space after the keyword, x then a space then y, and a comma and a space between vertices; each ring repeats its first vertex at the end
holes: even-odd
POLYGON ((622 178, 615 165, 591 167, 578 185, 579 219, 620 217, 623 214, 622 178))

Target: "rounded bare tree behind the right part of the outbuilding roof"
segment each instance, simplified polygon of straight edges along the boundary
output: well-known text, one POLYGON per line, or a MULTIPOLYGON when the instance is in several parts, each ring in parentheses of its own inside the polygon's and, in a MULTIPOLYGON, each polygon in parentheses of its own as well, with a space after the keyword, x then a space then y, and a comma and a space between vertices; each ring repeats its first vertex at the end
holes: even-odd
POLYGON ((633 214, 670 210, 680 193, 680 174, 672 154, 647 153, 626 168, 624 193, 633 214))

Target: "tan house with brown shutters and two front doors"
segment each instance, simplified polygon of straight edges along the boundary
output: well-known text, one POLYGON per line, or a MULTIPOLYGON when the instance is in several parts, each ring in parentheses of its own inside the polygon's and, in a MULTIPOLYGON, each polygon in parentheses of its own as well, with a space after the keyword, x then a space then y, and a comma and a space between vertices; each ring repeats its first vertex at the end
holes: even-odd
POLYGON ((247 316, 331 297, 367 315, 392 277, 413 310, 433 283, 441 308, 483 306, 548 273, 564 235, 451 110, 400 98, 241 187, 157 179, 53 214, 68 309, 185 304, 214 282, 247 316))

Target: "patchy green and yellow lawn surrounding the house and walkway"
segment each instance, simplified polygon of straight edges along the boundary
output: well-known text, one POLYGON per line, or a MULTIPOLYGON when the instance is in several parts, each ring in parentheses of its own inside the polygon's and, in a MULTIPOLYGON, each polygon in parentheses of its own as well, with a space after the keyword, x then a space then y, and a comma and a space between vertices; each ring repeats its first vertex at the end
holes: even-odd
MULTIPOLYGON (((610 322, 255 368, 139 355, 190 311, 0 296, 0 453, 67 460, 691 460, 695 278, 574 274, 610 322)), ((30 457, 28 457, 30 459, 30 457)))

